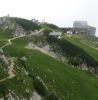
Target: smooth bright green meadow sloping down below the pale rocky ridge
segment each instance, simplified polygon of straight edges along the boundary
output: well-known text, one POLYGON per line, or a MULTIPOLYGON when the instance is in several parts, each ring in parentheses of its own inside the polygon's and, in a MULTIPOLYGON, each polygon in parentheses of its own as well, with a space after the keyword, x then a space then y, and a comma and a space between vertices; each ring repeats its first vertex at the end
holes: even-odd
MULTIPOLYGON (((36 75, 41 77, 45 82, 49 92, 56 92, 56 95, 61 98, 61 100, 98 99, 98 80, 93 75, 71 68, 68 65, 61 64, 53 58, 36 50, 17 48, 18 45, 13 44, 5 48, 4 51, 6 52, 6 55, 13 57, 21 58, 25 56, 27 58, 26 64, 28 71, 30 71, 29 73, 33 74, 32 69, 35 69, 36 75)), ((16 76, 16 78, 18 77, 21 76, 16 76)), ((26 80, 25 76, 23 79, 26 80)), ((33 81, 32 78, 30 78, 30 80, 29 84, 33 81)), ((13 79, 9 80, 9 83, 12 85, 15 84, 13 79)), ((21 84, 21 82, 19 83, 21 84)), ((6 85, 9 88, 9 84, 6 83, 6 85)), ((13 86, 13 88, 15 87, 13 86)))

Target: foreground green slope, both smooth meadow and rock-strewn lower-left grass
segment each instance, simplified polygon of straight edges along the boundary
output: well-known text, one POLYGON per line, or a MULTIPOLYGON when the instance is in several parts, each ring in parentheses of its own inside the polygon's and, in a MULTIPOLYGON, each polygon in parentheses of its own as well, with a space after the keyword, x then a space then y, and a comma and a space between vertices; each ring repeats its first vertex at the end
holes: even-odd
POLYGON ((6 56, 15 57, 16 76, 0 83, 1 97, 14 92, 14 98, 29 100, 30 93, 36 90, 44 100, 98 99, 98 79, 94 75, 62 64, 39 51, 28 50, 17 42, 4 48, 4 52, 6 56), (23 57, 26 60, 22 60, 23 57), (35 77, 40 77, 47 89, 35 77))

